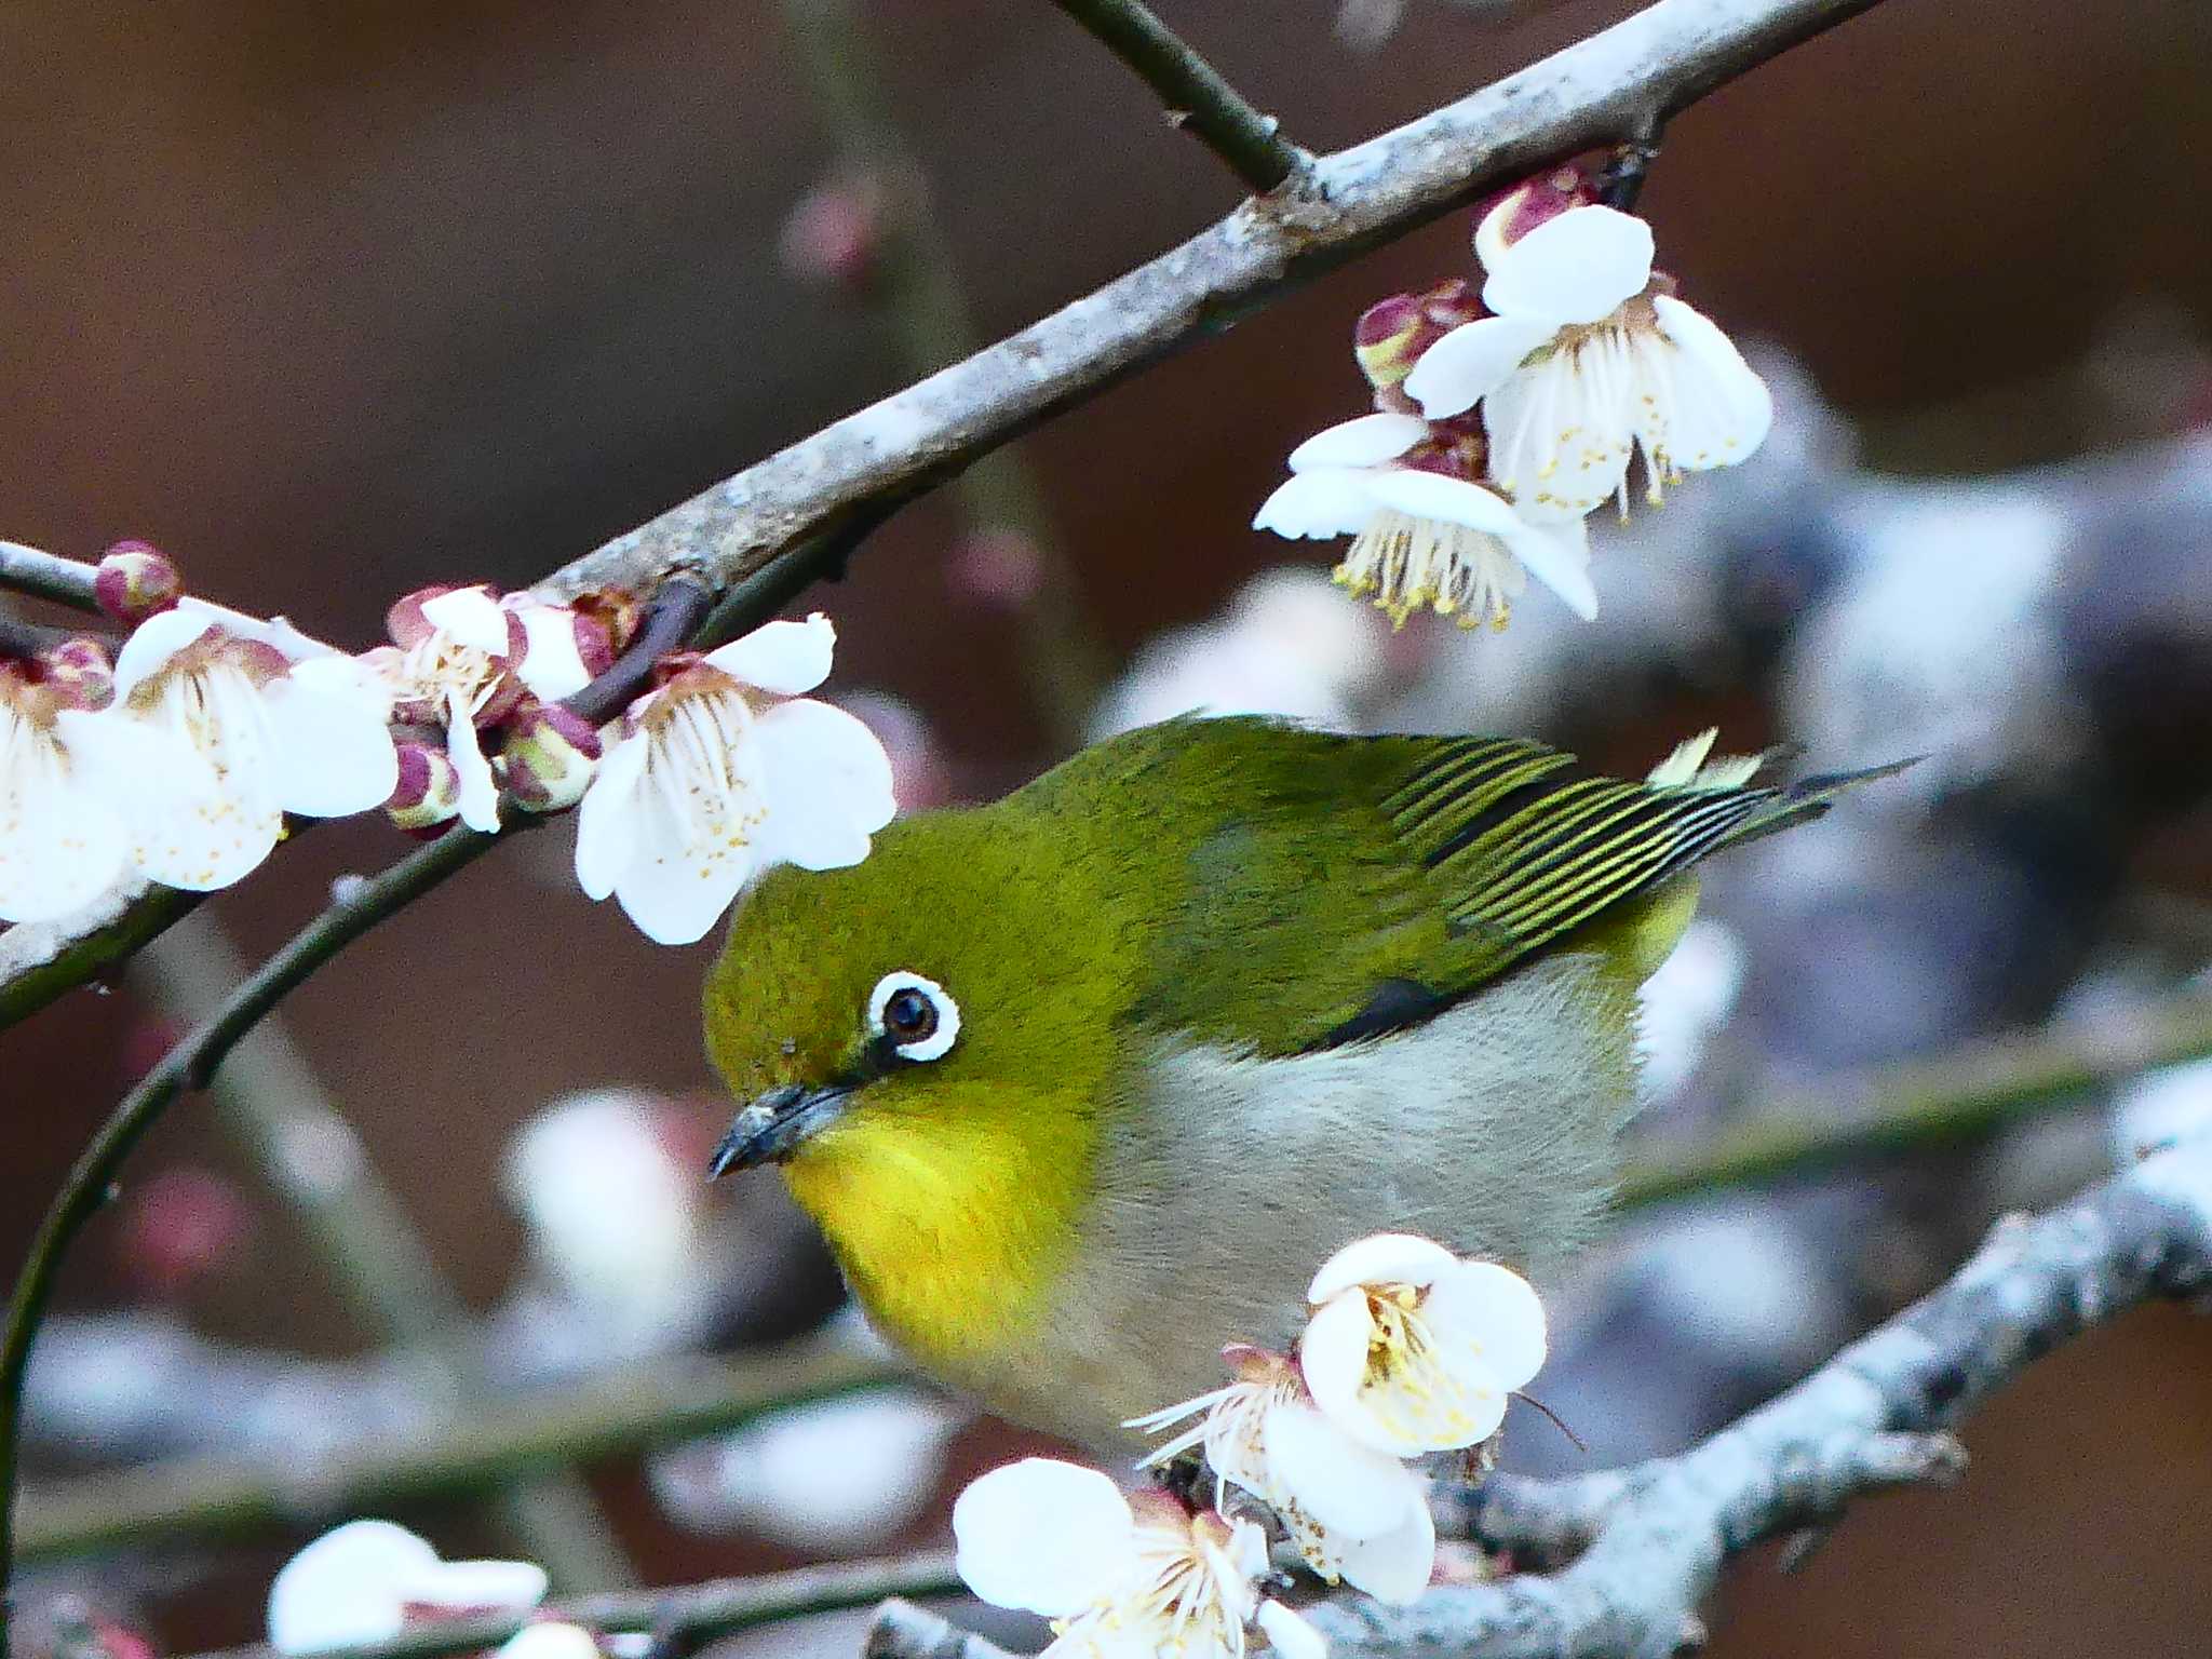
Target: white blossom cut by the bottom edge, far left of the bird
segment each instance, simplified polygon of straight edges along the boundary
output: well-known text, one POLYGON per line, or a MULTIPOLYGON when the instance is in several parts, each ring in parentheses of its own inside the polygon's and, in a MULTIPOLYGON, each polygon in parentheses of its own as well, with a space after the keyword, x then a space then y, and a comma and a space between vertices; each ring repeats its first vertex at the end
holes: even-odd
POLYGON ((347 1522, 294 1555, 270 1584, 270 1646, 303 1655, 389 1641, 411 1617, 533 1608, 544 1568, 447 1562, 405 1526, 347 1522))

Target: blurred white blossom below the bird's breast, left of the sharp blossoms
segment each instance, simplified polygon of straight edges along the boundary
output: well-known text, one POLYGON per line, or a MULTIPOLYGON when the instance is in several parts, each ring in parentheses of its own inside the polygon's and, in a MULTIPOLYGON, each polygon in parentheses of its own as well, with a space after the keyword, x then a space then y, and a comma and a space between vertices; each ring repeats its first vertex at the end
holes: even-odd
POLYGON ((911 1389, 821 1400, 655 1458, 653 1489, 686 1526, 743 1526, 821 1553, 880 1548, 920 1517, 969 1418, 911 1389))

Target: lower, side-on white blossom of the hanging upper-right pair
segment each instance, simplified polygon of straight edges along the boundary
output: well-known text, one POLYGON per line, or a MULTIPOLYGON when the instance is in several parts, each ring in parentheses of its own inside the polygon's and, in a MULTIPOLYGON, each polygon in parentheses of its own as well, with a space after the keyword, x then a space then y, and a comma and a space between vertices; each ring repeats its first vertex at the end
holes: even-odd
POLYGON ((1290 473, 1261 502, 1252 529, 1294 540, 1349 535, 1336 582, 1356 597, 1374 593, 1391 624, 1429 606, 1467 628, 1502 628, 1524 573, 1575 615, 1597 615, 1582 520, 1531 522, 1478 482, 1475 434, 1411 414, 1358 416, 1292 449, 1290 473))

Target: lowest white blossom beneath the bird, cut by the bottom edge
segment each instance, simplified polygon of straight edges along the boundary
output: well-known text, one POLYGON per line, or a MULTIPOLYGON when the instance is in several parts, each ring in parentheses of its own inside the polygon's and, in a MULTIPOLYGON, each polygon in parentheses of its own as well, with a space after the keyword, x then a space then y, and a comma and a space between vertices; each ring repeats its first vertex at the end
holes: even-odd
POLYGON ((1159 1491, 1133 1504, 1095 1469, 993 1469, 953 1504, 953 1540, 975 1595, 1053 1621, 1051 1659, 1243 1659, 1254 1624, 1287 1659, 1325 1652, 1318 1630, 1259 1597, 1267 1537, 1254 1522, 1192 1515, 1159 1491))

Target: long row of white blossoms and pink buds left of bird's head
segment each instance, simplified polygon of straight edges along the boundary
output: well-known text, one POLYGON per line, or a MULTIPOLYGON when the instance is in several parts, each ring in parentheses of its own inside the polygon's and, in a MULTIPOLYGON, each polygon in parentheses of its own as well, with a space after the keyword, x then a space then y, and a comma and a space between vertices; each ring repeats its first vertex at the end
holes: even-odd
POLYGON ((830 672, 821 615, 664 657, 599 728, 564 699, 637 630, 622 593, 422 588, 358 657, 186 595, 144 542, 108 551, 95 593, 131 624, 113 661, 97 639, 0 657, 0 922, 64 918, 126 878, 228 887, 288 816, 385 807, 427 836, 580 807, 584 891, 688 945, 761 865, 856 863, 894 812, 876 737, 801 697, 830 672))

